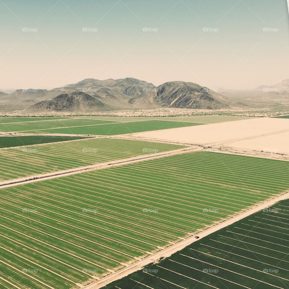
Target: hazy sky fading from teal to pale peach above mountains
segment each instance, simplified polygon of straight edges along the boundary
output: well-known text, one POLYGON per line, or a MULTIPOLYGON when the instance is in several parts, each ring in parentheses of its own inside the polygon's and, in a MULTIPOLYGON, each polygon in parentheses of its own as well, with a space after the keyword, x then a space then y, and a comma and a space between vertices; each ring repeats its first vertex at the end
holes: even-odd
POLYGON ((253 88, 289 78, 286 0, 0 0, 0 24, 1 89, 124 77, 253 88))

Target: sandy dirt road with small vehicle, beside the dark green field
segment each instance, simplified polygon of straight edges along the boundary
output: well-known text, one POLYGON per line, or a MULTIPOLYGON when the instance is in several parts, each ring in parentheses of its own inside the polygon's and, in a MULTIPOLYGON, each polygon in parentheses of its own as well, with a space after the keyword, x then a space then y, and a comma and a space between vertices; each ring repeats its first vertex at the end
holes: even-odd
POLYGON ((284 199, 288 199, 289 198, 289 192, 286 191, 285 193, 281 194, 280 196, 274 198, 274 199, 270 199, 268 200, 266 203, 262 203, 260 205, 257 205, 256 207, 254 207, 253 209, 249 209, 246 212, 242 212, 241 214, 236 215, 233 218, 228 219, 227 221, 224 221, 218 225, 215 225, 211 228, 208 228, 202 232, 200 232, 198 234, 199 239, 195 239, 194 236, 191 236, 183 241, 180 241, 178 243, 176 243, 175 245, 169 246, 168 248, 161 250, 157 253, 155 253, 152 256, 146 257, 144 259, 142 259, 141 261, 135 262, 134 264, 121 269, 113 274, 110 274, 106 277, 103 277, 100 281, 97 281, 95 283, 89 284, 87 286, 85 286, 85 289, 100 289, 104 286, 106 286, 107 284, 110 284, 113 281, 119 280, 123 277, 126 277, 127 275, 136 272, 138 270, 141 270, 144 266, 153 263, 153 262, 157 262, 160 258, 167 258, 169 256, 171 256, 172 254, 184 249, 185 247, 191 245, 191 243, 200 240, 216 231, 219 231, 222 228, 225 228, 229 225, 234 224, 237 221, 240 221, 241 219, 244 219, 250 215, 252 215, 253 213, 256 213, 262 209, 265 209, 267 207, 270 207, 272 205, 274 205, 275 203, 277 203, 278 201, 284 200, 284 199))

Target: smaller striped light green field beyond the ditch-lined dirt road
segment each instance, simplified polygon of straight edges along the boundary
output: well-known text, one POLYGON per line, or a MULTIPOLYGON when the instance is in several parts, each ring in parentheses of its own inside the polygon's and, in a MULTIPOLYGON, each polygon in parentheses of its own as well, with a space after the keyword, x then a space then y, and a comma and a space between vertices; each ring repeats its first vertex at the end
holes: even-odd
POLYGON ((133 140, 88 138, 64 143, 1 149, 0 181, 95 165, 183 147, 133 140))

